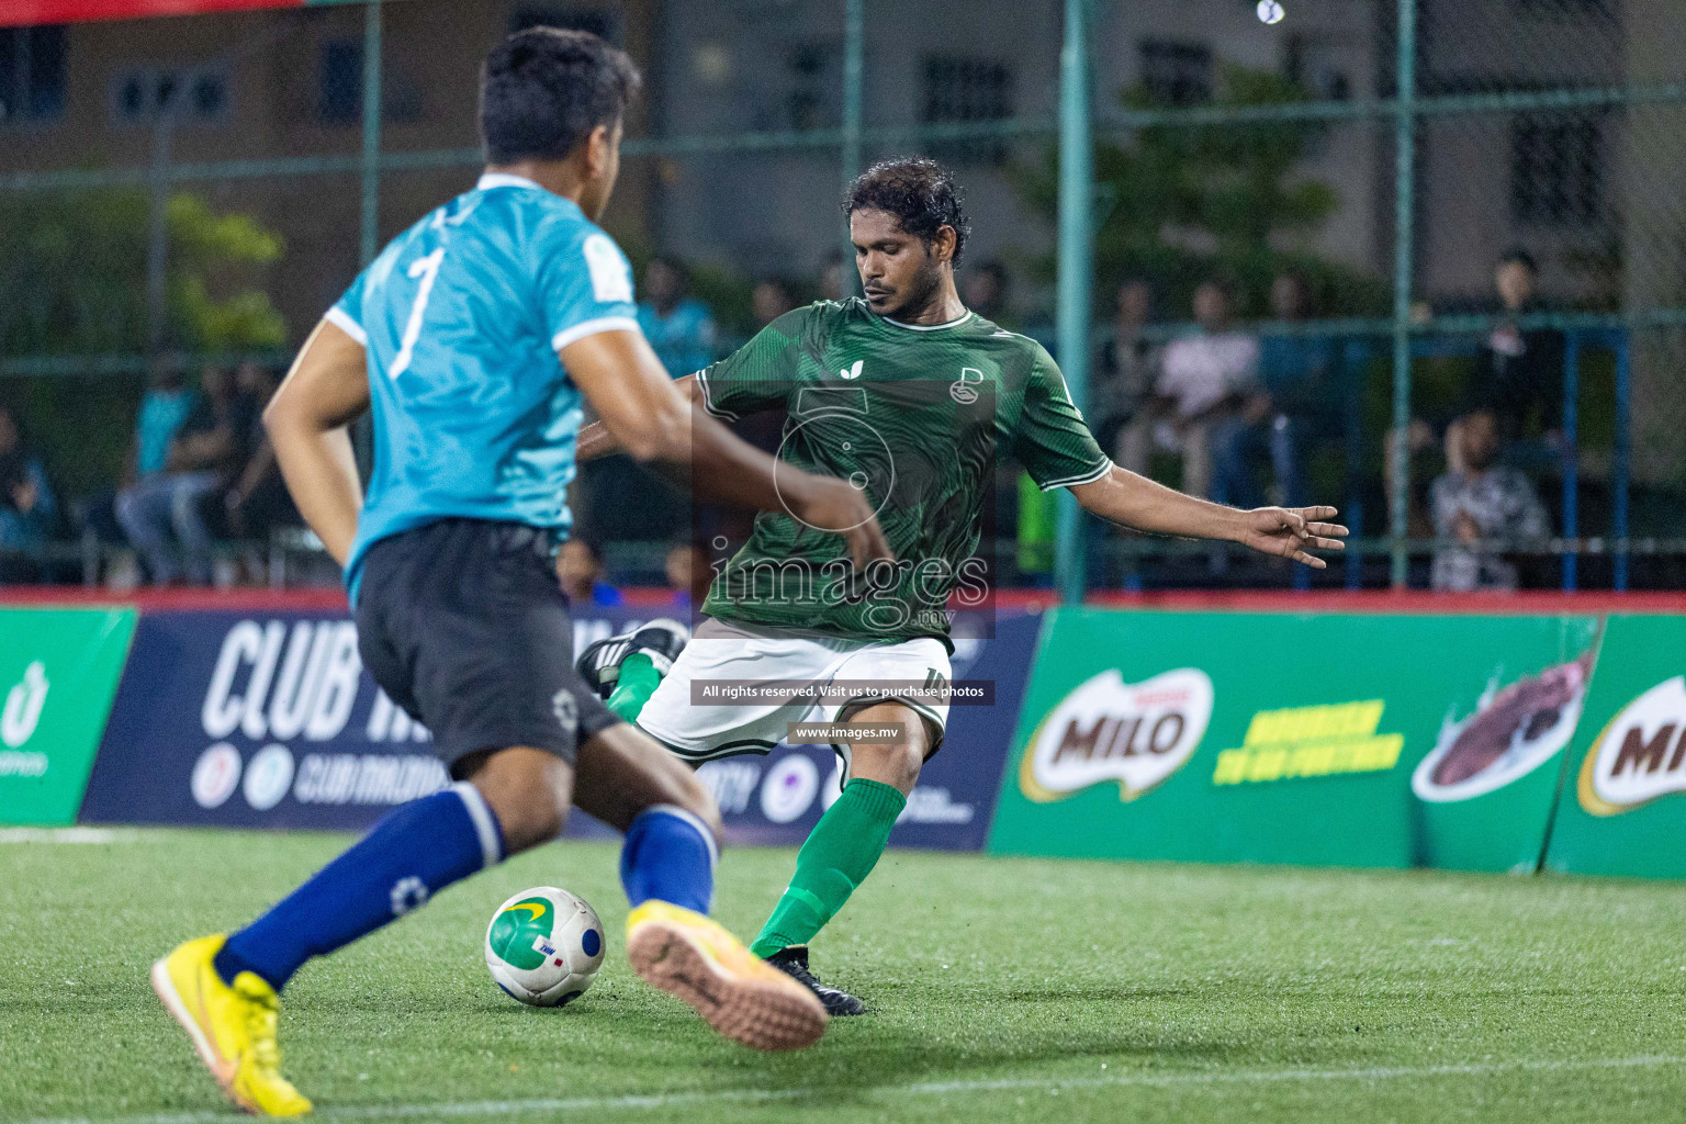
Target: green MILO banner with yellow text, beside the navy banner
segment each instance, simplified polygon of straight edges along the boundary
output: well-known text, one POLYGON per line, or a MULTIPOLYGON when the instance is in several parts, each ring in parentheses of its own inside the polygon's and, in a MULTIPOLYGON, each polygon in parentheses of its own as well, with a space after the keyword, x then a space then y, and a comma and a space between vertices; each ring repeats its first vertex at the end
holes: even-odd
POLYGON ((1598 630, 1062 608, 990 849, 1534 870, 1598 630))

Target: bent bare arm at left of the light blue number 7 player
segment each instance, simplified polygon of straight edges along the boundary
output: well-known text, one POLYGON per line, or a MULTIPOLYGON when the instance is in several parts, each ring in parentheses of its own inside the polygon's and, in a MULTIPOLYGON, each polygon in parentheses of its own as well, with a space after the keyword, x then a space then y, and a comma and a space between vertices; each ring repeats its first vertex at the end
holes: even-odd
POLYGON ((362 344, 322 320, 263 411, 298 514, 341 566, 357 536, 362 484, 346 426, 369 408, 362 344))

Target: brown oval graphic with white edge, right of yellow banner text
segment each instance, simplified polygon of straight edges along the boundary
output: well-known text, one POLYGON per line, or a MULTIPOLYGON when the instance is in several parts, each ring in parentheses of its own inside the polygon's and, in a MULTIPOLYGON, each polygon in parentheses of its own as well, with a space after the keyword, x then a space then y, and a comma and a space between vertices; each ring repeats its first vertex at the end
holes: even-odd
POLYGON ((1556 757, 1580 723, 1592 652, 1499 689, 1487 684, 1467 718, 1447 713, 1440 736, 1411 773, 1421 800, 1452 804, 1487 795, 1556 757))

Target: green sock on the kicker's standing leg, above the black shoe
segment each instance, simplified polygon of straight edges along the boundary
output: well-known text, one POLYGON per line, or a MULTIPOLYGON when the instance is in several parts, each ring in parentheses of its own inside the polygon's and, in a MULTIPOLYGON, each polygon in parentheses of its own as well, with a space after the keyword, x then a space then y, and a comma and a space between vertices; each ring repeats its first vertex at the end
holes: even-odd
POLYGON ((863 777, 850 780, 796 853, 796 875, 750 952, 765 957, 813 940, 855 886, 867 881, 904 807, 907 797, 890 785, 863 777))

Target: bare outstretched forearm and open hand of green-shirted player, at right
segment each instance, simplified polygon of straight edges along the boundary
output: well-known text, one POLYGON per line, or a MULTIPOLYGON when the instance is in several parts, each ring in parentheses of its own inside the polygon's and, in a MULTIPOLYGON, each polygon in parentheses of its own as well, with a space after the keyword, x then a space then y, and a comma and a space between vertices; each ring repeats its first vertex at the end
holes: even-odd
POLYGON ((1310 551, 1345 549, 1347 529, 1334 507, 1254 507, 1236 511, 1184 495, 1135 472, 1114 467, 1099 480, 1071 489, 1084 511, 1152 534, 1241 543, 1261 554, 1291 558, 1322 570, 1327 563, 1310 551))

